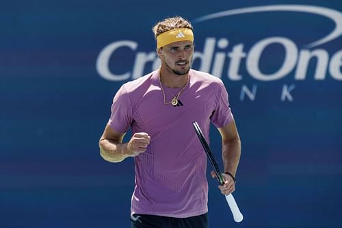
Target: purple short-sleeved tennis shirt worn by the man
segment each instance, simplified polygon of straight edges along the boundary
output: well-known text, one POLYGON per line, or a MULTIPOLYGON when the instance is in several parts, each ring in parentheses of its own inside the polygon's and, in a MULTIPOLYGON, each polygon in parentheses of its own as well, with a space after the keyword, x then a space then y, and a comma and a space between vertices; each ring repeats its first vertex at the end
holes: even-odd
MULTIPOLYGON (((171 101, 180 88, 164 90, 171 101)), ((146 151, 134 157, 131 214, 186 218, 208 211, 207 155, 192 122, 209 142, 210 123, 224 127, 233 120, 228 93, 217 77, 190 70, 179 100, 179 106, 163 103, 159 71, 122 85, 114 97, 110 127, 122 133, 131 127, 133 134, 151 138, 146 151)))

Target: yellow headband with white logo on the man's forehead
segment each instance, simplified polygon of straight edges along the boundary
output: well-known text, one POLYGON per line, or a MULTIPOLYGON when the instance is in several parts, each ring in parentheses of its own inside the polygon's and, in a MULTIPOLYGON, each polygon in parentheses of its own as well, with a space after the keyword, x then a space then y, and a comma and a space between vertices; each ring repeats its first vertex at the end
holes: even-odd
POLYGON ((164 47, 165 45, 169 45, 172 42, 185 40, 194 42, 194 34, 192 33, 192 29, 172 29, 157 36, 157 49, 164 47))

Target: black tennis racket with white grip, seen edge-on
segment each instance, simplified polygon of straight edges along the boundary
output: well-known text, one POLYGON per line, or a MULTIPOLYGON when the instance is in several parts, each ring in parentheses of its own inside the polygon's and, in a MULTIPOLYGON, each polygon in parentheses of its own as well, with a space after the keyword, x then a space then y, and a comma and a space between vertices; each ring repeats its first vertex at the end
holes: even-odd
MULTIPOLYGON (((218 167, 218 163, 216 162, 215 157, 213 156, 213 153, 211 152, 211 149, 210 149, 207 141, 205 140, 205 136, 203 136, 203 134, 202 134, 200 126, 198 126, 198 123, 196 121, 194 121, 192 123, 192 125, 194 126, 194 129, 195 129, 196 134, 200 140, 200 143, 202 144, 203 149, 205 149, 205 153, 207 153, 209 161, 215 170, 216 177, 218 178, 218 181, 223 186, 224 185, 224 177, 220 171, 220 168, 218 167)), ((244 216, 241 214, 239 207, 237 207, 237 203, 233 197, 233 194, 228 194, 225 197, 226 197, 226 201, 227 201, 229 207, 231 208, 231 212, 233 214, 233 218, 234 218, 235 222, 237 222, 237 223, 241 222, 244 219, 244 216)))

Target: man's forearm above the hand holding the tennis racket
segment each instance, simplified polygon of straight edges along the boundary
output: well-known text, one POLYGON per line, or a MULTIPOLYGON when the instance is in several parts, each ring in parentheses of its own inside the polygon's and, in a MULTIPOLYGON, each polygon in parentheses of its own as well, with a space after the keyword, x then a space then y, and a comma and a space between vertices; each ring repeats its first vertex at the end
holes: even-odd
POLYGON ((231 173, 234 177, 237 172, 241 155, 240 138, 234 138, 226 142, 222 142, 222 160, 224 163, 224 173, 231 173))

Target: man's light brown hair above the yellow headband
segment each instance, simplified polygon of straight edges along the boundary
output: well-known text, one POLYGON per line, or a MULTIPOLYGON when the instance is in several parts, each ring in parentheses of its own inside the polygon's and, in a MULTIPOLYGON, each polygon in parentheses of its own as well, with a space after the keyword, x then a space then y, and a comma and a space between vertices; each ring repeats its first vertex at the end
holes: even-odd
POLYGON ((174 16, 174 17, 168 17, 165 18, 163 21, 159 21, 155 26, 153 26, 153 34, 155 34, 155 39, 157 40, 157 36, 159 34, 162 34, 166 31, 172 30, 172 29, 180 29, 180 28, 187 28, 192 29, 192 24, 185 20, 181 16, 174 16))

